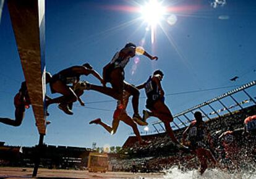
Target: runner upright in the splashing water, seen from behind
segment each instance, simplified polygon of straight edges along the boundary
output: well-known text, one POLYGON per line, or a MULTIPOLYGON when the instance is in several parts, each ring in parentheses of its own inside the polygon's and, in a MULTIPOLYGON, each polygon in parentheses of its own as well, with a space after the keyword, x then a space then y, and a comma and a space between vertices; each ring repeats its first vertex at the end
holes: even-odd
POLYGON ((190 149, 197 155, 200 160, 200 173, 201 175, 208 168, 207 160, 216 165, 215 157, 210 149, 213 149, 213 143, 210 133, 207 130, 207 125, 203 122, 201 112, 194 113, 195 120, 193 120, 189 127, 182 134, 182 141, 189 146, 190 149), (188 138, 188 139, 187 139, 188 138))

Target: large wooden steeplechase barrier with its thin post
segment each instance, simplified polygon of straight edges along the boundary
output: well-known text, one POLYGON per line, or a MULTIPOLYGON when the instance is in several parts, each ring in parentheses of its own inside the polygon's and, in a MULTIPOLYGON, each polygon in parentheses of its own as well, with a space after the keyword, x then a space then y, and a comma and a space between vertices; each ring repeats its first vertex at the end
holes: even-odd
POLYGON ((45 107, 45 0, 8 0, 17 49, 28 95, 40 134, 33 177, 36 177, 40 163, 43 139, 46 135, 45 107))

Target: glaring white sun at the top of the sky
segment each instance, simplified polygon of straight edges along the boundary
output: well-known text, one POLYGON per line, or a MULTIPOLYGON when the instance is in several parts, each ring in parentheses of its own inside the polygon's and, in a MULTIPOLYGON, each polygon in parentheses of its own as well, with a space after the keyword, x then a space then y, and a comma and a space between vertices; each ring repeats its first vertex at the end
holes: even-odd
POLYGON ((140 7, 140 12, 142 18, 152 27, 160 23, 161 19, 163 19, 165 7, 157 0, 150 0, 140 7))

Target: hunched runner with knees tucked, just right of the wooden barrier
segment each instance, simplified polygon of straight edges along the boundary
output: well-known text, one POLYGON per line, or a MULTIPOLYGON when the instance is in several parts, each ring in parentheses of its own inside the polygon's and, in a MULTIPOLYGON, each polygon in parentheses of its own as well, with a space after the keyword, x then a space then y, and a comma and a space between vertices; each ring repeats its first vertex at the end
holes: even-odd
POLYGON ((50 81, 51 93, 60 93, 63 96, 59 98, 49 99, 46 103, 48 107, 50 104, 59 103, 59 109, 63 110, 66 114, 72 115, 72 110, 69 109, 67 104, 77 101, 77 95, 68 86, 69 84, 78 83, 80 75, 92 74, 94 77, 103 83, 103 79, 98 72, 92 69, 89 64, 83 64, 82 66, 72 66, 62 70, 59 73, 53 75, 50 81))

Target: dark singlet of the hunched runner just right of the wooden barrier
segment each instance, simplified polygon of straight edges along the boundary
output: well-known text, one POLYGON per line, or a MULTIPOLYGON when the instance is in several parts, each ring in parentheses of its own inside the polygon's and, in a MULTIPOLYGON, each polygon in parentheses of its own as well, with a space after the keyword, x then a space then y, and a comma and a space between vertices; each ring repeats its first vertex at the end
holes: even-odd
POLYGON ((72 84, 79 81, 81 74, 74 72, 72 70, 74 67, 80 67, 80 66, 73 66, 73 67, 69 67, 67 69, 62 70, 61 72, 58 73, 59 79, 66 84, 72 84))

